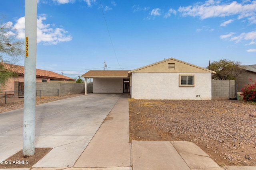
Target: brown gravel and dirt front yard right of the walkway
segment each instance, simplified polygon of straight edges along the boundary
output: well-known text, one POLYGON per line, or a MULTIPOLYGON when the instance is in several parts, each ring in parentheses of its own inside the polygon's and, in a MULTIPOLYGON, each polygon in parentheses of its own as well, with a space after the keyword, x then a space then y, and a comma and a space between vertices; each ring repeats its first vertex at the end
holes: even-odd
POLYGON ((256 105, 129 99, 130 141, 191 141, 220 166, 256 166, 256 105))

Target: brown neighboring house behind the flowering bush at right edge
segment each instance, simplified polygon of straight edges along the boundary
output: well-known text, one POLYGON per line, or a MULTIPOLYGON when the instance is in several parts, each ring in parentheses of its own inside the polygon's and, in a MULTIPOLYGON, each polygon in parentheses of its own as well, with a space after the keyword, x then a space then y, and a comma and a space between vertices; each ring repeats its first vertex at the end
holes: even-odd
POLYGON ((256 64, 244 66, 244 70, 246 70, 246 72, 242 72, 242 74, 236 77, 238 92, 241 92, 241 89, 244 88, 246 84, 252 84, 249 78, 256 80, 256 64))

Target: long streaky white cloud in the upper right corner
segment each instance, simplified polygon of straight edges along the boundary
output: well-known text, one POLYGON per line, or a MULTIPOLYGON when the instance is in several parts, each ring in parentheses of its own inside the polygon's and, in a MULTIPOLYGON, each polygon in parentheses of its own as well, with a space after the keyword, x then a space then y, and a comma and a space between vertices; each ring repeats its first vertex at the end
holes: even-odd
POLYGON ((221 3, 218 0, 208 0, 204 4, 196 3, 193 6, 180 7, 178 9, 183 16, 206 18, 225 17, 238 15, 238 19, 247 18, 250 23, 256 23, 256 1, 238 3, 221 3))

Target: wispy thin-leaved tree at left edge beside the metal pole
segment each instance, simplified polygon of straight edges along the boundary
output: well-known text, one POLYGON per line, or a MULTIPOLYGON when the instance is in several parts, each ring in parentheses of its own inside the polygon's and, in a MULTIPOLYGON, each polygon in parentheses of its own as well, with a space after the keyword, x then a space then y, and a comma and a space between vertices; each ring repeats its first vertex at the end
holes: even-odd
MULTIPOLYGON (((3 18, 3 16, 0 16, 0 21, 3 18)), ((2 61, 4 59, 5 63, 15 63, 21 57, 24 57, 24 42, 17 40, 16 35, 10 23, 0 22, 0 60, 2 61)), ((5 86, 8 79, 15 75, 0 63, 1 86, 5 86)))

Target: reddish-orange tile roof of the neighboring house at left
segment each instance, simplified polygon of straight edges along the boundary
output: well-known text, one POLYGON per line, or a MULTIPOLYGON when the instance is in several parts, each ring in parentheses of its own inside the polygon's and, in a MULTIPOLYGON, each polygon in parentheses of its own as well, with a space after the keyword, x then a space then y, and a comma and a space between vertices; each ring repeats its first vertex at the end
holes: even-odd
MULTIPOLYGON (((0 64, 2 64, 6 70, 10 70, 11 72, 15 72, 20 75, 24 75, 24 66, 8 64, 8 63, 0 63, 0 64)), ((50 78, 52 80, 75 80, 74 78, 63 76, 56 72, 40 70, 40 69, 36 69, 36 76, 50 78)))

